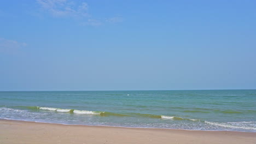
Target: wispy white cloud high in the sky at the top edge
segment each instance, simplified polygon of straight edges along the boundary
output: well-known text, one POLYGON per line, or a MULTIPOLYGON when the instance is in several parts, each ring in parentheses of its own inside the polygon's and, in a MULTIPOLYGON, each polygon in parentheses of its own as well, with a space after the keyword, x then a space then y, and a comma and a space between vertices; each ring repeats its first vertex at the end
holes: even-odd
POLYGON ((89 17, 88 4, 68 0, 37 0, 40 6, 56 17, 89 17))

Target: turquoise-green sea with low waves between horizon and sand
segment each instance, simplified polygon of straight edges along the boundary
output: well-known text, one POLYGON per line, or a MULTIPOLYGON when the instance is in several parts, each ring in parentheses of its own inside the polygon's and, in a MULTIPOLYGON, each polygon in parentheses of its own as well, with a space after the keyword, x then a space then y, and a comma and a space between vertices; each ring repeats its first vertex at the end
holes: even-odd
POLYGON ((0 92, 0 118, 256 132, 256 90, 0 92))

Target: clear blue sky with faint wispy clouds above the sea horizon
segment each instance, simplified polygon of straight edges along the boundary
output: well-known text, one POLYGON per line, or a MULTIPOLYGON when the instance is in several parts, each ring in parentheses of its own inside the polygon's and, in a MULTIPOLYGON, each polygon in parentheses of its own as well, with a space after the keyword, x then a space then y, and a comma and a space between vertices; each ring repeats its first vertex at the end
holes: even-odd
POLYGON ((0 2, 0 91, 255 89, 256 1, 0 2))

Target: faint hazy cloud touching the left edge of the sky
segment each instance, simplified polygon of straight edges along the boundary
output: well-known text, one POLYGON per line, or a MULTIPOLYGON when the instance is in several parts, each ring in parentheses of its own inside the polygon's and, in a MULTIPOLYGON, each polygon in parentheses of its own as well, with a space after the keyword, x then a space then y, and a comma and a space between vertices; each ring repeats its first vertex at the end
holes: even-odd
POLYGON ((0 38, 0 52, 14 52, 26 45, 26 43, 19 43, 15 40, 0 38))

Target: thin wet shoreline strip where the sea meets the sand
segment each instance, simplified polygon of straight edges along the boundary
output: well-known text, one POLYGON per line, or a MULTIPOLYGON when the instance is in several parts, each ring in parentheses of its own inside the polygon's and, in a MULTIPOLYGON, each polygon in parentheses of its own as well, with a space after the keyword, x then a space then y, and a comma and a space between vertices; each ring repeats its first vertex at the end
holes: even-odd
POLYGON ((31 123, 42 123, 42 124, 60 124, 60 125, 75 125, 81 127, 110 127, 110 128, 127 128, 127 129, 159 129, 159 130, 185 130, 185 131, 229 131, 229 132, 238 132, 238 133, 255 133, 252 131, 233 131, 233 130, 195 130, 195 129, 168 129, 168 128, 143 128, 143 127, 120 127, 112 125, 84 125, 84 124, 65 124, 65 123, 48 123, 48 122, 35 122, 35 121, 23 121, 15 119, 4 119, 0 118, 0 121, 18 121, 18 122, 31 122, 31 123))

